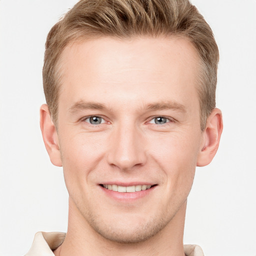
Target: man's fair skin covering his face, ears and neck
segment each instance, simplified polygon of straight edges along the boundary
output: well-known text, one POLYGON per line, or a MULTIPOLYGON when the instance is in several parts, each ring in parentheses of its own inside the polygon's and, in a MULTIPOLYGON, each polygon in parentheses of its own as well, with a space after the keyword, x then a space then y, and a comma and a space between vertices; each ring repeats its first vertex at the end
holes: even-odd
POLYGON ((103 37, 64 49, 57 131, 47 105, 40 109, 46 149, 69 193, 55 255, 184 255, 195 166, 211 161, 222 131, 217 108, 200 130, 198 69, 183 38, 103 37), (154 186, 137 196, 100 184, 154 186))

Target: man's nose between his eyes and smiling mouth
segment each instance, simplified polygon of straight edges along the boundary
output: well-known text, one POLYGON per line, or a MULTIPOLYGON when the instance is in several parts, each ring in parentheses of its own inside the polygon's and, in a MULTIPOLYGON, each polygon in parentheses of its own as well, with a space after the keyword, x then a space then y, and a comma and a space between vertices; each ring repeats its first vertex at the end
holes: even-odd
POLYGON ((138 127, 120 125, 112 131, 107 160, 121 170, 130 170, 146 162, 146 140, 138 127))

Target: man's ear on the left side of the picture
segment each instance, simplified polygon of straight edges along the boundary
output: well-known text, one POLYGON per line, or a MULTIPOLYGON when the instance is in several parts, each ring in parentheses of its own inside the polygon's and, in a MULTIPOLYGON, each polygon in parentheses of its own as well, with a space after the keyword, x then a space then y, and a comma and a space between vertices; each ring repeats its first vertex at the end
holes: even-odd
POLYGON ((51 120, 51 115, 47 104, 42 104, 40 107, 40 128, 42 132, 42 138, 50 161, 56 166, 62 166, 58 135, 51 120))

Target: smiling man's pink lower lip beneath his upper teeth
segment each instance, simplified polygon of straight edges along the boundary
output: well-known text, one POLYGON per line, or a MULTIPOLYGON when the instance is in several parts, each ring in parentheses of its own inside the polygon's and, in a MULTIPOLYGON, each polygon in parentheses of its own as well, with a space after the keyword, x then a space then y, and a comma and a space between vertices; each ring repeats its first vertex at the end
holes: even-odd
POLYGON ((118 192, 118 191, 113 191, 106 189, 102 186, 99 186, 102 191, 109 197, 119 200, 119 201, 133 201, 139 198, 142 198, 149 193, 151 193, 156 186, 152 186, 146 190, 141 190, 141 191, 136 191, 136 192, 118 192))

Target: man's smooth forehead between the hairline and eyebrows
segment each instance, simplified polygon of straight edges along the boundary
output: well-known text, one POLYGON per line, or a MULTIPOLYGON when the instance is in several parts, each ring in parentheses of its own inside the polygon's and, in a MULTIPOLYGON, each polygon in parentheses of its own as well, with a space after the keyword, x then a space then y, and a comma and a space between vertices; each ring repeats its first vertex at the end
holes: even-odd
POLYGON ((92 98, 134 105, 179 98, 185 104, 197 98, 199 57, 184 38, 101 37, 67 45, 60 63, 60 104, 92 98))

